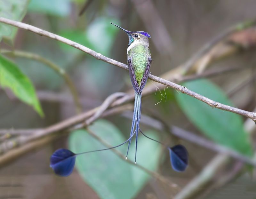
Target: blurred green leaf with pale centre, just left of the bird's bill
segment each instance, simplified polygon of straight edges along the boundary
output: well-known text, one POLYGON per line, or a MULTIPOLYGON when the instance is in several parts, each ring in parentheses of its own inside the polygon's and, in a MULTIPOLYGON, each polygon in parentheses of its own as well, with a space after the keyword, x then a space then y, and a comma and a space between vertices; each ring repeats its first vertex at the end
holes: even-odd
MULTIPOLYGON (((111 25, 110 22, 118 23, 116 19, 101 17, 94 20, 88 26, 86 31, 68 29, 61 31, 59 35, 108 56, 110 54, 110 49, 114 42, 116 33, 119 31, 119 29, 111 25)), ((64 50, 78 52, 78 50, 65 44, 60 43, 60 46, 64 50)))

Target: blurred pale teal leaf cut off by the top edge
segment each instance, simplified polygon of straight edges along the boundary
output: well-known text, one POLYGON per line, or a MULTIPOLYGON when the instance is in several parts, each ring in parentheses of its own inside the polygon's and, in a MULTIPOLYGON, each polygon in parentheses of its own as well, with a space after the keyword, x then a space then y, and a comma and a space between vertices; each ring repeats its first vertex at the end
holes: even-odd
POLYGON ((28 10, 31 12, 66 17, 70 12, 70 0, 31 0, 28 5, 28 10))

